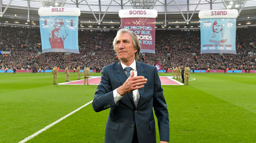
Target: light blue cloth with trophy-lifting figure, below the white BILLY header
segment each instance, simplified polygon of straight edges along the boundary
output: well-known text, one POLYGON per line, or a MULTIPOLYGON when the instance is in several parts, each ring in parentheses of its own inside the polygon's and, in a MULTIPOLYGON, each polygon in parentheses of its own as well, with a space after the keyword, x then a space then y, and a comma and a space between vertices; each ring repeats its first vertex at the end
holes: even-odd
POLYGON ((42 53, 79 53, 78 16, 41 16, 42 53))

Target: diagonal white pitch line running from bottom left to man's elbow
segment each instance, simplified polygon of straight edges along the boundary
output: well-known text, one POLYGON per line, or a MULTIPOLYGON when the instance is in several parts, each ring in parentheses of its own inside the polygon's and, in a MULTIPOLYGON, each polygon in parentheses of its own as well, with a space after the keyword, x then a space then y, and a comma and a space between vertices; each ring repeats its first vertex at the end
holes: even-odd
MULTIPOLYGON (((92 100, 92 101, 93 101, 93 100, 92 100)), ((76 110, 74 110, 74 111, 72 111, 71 113, 69 113, 68 115, 66 115, 66 116, 64 116, 64 117, 62 117, 62 118, 60 118, 59 120, 57 120, 57 121, 55 121, 55 122, 49 124, 48 126, 44 127, 43 129, 37 131, 35 134, 26 137, 25 139, 23 139, 23 140, 20 141, 19 143, 25 143, 26 141, 28 141, 28 140, 32 139, 33 137, 39 135, 41 132, 43 132, 43 131, 45 131, 45 130, 51 128, 51 127, 53 127, 53 125, 59 123, 59 122, 62 121, 63 119, 67 118, 68 116, 74 114, 75 112, 79 111, 80 109, 82 109, 82 108, 84 108, 85 106, 87 106, 87 105, 89 105, 90 103, 92 103, 92 101, 90 101, 90 102, 84 104, 83 106, 77 108, 76 110)))

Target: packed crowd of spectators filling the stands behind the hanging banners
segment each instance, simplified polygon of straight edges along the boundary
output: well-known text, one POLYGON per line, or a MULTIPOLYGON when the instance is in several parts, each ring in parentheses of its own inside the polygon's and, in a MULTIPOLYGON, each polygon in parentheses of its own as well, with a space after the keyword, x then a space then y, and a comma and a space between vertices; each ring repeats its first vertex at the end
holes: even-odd
MULTIPOLYGON (((42 52, 39 28, 1 26, 0 29, 0 51, 11 51, 0 55, 1 69, 52 69, 54 66, 102 69, 119 61, 112 47, 116 30, 79 30, 79 54, 39 54, 42 52)), ((237 54, 200 54, 200 30, 156 30, 156 54, 141 54, 139 61, 151 65, 159 62, 165 69, 182 65, 195 69, 256 69, 256 28, 237 28, 236 33, 237 54), (252 56, 248 52, 252 52, 252 56)))

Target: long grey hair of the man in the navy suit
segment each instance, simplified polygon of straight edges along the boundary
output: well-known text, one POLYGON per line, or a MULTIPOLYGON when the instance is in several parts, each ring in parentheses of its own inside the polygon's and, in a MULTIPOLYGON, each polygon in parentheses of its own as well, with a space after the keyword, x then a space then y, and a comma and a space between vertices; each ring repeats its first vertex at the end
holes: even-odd
POLYGON ((132 37, 132 40, 133 40, 133 47, 135 50, 137 50, 137 52, 135 53, 135 60, 139 60, 139 55, 140 55, 140 42, 139 42, 139 39, 137 37, 137 35, 130 31, 130 30, 127 30, 127 29, 119 29, 117 31, 117 34, 116 34, 116 37, 113 41, 113 47, 114 47, 114 50, 116 52, 116 40, 117 38, 119 38, 121 36, 121 34, 123 33, 128 33, 130 34, 130 36, 132 37))

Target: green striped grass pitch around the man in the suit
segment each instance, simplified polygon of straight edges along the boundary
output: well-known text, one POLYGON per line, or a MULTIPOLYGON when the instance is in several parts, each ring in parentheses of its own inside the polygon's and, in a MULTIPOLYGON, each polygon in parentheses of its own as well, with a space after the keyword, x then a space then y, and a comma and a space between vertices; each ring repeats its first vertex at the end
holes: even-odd
MULTIPOLYGON (((69 80, 76 77, 70 73, 69 80)), ((195 80, 189 86, 162 86, 170 142, 255 143, 256 74, 191 73, 190 77, 195 80)), ((92 101, 97 87, 53 85, 51 73, 1 73, 0 81, 0 143, 18 143, 92 101)), ((62 82, 65 74, 59 73, 57 83, 62 82)), ((96 113, 89 104, 27 143, 103 143, 108 113, 109 109, 96 113)))

